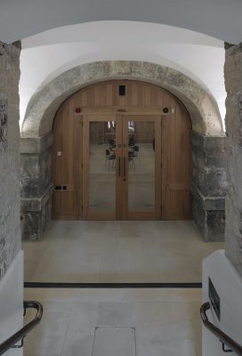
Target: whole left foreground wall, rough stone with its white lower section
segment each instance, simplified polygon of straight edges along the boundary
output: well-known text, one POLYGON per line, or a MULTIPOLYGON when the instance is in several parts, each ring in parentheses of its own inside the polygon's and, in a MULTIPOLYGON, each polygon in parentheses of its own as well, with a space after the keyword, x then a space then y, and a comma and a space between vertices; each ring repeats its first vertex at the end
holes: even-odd
POLYGON ((0 344, 23 325, 19 80, 20 43, 0 42, 0 344))

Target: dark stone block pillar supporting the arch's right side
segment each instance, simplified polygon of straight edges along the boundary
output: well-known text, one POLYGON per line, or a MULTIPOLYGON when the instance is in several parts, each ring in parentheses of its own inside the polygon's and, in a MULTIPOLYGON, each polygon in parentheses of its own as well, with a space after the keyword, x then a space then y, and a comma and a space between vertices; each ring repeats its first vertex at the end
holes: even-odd
POLYGON ((192 132, 192 212, 205 241, 223 241, 225 228, 224 137, 192 132))

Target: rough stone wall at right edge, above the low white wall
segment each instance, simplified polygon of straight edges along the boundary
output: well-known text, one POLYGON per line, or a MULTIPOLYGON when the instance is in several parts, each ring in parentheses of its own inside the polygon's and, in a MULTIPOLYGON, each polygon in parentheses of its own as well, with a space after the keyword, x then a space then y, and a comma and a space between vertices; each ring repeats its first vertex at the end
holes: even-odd
POLYGON ((228 195, 225 251, 242 274, 242 44, 227 46, 224 65, 228 195))

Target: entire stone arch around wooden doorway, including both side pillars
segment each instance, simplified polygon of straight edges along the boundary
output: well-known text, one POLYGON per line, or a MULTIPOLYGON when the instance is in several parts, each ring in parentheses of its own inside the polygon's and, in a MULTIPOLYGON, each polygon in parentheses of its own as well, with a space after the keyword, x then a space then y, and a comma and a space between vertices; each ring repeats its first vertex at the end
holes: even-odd
POLYGON ((40 239, 52 210, 52 122, 60 104, 85 86, 111 79, 140 80, 173 93, 192 123, 193 218, 204 239, 224 234, 224 133, 213 96, 181 72, 142 61, 99 61, 77 66, 44 85, 28 103, 21 140, 23 238, 40 239))

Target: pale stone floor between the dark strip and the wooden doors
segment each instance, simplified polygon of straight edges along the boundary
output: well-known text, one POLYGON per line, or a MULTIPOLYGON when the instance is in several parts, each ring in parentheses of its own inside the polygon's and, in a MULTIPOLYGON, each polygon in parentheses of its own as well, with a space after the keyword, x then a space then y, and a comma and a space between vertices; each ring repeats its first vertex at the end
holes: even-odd
POLYGON ((23 242, 25 281, 200 282, 204 242, 193 222, 52 222, 23 242))

